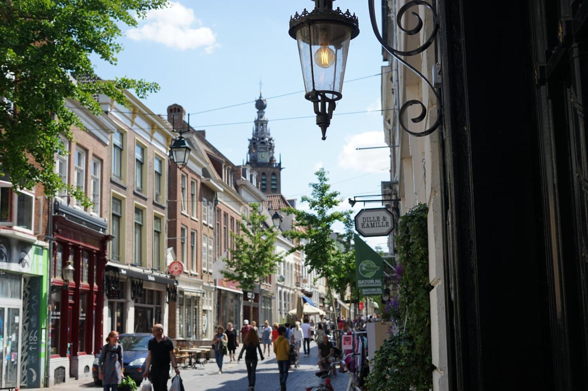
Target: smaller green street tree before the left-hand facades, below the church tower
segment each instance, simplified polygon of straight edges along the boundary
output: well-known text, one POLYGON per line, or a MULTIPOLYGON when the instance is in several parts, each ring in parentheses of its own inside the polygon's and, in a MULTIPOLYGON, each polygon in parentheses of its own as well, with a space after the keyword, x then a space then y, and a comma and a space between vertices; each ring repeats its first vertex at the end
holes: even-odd
MULTIPOLYGON (((238 282, 243 291, 252 292, 255 284, 276 272, 283 255, 276 254, 279 231, 266 223, 259 204, 249 206, 249 215, 243 215, 238 223, 240 235, 230 232, 235 248, 230 250, 230 257, 222 259, 227 268, 221 273, 229 281, 238 282)), ((250 311, 253 314, 253 303, 250 311)))

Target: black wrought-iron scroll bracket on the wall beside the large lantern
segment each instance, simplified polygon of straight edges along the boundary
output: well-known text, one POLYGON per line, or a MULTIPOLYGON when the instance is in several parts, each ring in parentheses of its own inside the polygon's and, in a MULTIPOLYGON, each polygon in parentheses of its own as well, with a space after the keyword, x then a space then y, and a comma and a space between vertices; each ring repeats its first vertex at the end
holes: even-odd
POLYGON ((424 0, 411 0, 411 1, 407 2, 405 5, 403 5, 402 7, 400 7, 400 9, 398 10, 398 14, 396 15, 396 25, 398 26, 398 28, 400 30, 402 30, 407 35, 415 35, 415 34, 419 33, 423 28, 423 19, 421 19, 419 14, 417 14, 416 12, 411 12, 411 14, 413 16, 415 16, 415 18, 417 19, 416 27, 412 28, 412 29, 406 29, 406 28, 403 28, 403 26, 402 26, 402 16, 410 8, 412 8, 413 6, 418 6, 418 5, 425 6, 426 8, 429 9, 430 12, 432 12, 433 23, 435 26, 433 27, 433 31, 432 31, 431 35, 425 40, 425 42, 423 42, 422 45, 420 45, 416 49, 402 51, 402 50, 396 50, 396 49, 392 48, 392 46, 388 45, 382 39, 382 35, 380 34, 379 28, 377 27, 374 0, 368 0, 370 21, 372 22, 373 32, 376 35, 377 40, 380 42, 382 47, 384 49, 386 49, 386 51, 388 53, 390 53, 390 55, 392 55, 400 63, 402 63, 404 66, 406 66, 406 68, 412 70, 412 72, 415 73, 415 75, 419 76, 420 79, 423 80, 423 82, 425 82, 426 85, 429 86, 429 88, 432 90, 433 95, 435 95, 435 100, 437 102, 437 119, 436 119, 435 123, 433 123, 432 126, 429 127, 429 129, 423 130, 423 132, 411 132, 406 127, 406 124, 403 123, 403 121, 402 121, 403 114, 406 112, 406 110, 410 106, 418 105, 418 106, 420 106, 420 114, 410 120, 413 123, 422 122, 425 119, 425 117, 427 116, 427 109, 426 109, 425 105, 423 104, 423 102, 420 102, 420 100, 417 100, 417 99, 407 100, 407 102, 403 103, 403 105, 400 107, 400 110, 398 113, 398 122, 400 123, 400 127, 402 127, 402 129, 406 133, 412 134, 413 136, 422 137, 422 136, 427 136, 427 135, 435 132, 435 130, 437 130, 437 128, 440 126, 441 117, 442 117, 441 116, 441 99, 440 99, 439 93, 437 92, 437 90, 435 89, 433 84, 429 81, 429 79, 427 79, 427 77, 425 75, 423 75, 423 73, 421 73, 415 67, 413 67, 412 65, 407 63, 404 59, 400 58, 400 56, 414 56, 414 55, 417 55, 419 53, 424 52, 427 48, 429 48, 431 43, 433 43, 433 41, 435 41, 435 38, 437 36, 437 32, 439 32, 439 16, 435 12, 435 9, 433 8, 433 6, 430 5, 428 2, 426 2, 424 0))

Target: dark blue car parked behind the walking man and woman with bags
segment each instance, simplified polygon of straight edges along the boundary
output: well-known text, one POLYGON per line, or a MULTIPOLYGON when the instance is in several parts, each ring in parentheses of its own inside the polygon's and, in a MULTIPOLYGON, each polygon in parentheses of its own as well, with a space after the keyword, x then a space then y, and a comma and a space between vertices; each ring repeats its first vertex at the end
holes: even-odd
MULTIPOLYGON (((153 338, 150 333, 121 334, 118 342, 122 345, 122 365, 125 369, 124 375, 130 376, 137 385, 143 381, 145 373, 145 360, 147 359, 147 345, 149 339, 153 338)), ((98 380, 98 357, 94 359, 92 368, 92 377, 96 386, 102 385, 102 380, 98 380)))

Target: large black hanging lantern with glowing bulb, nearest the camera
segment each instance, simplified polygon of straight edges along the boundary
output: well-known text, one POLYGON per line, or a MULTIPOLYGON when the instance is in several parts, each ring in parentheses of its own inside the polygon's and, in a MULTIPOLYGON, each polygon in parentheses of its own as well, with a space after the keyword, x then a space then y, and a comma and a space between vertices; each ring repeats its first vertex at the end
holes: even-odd
POLYGON ((359 35, 359 24, 349 9, 333 10, 335 0, 313 1, 312 12, 304 9, 290 17, 289 34, 298 42, 305 98, 314 105, 316 124, 325 140, 335 102, 343 97, 349 41, 359 35))

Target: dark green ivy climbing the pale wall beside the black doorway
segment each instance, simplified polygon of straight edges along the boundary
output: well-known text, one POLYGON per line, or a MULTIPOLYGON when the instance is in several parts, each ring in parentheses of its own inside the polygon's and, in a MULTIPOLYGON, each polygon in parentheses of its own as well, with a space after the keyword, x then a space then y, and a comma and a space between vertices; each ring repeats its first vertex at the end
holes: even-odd
POLYGON ((366 389, 425 391, 432 389, 431 323, 427 205, 400 218, 395 237, 399 282, 396 335, 382 343, 373 358, 366 389))

